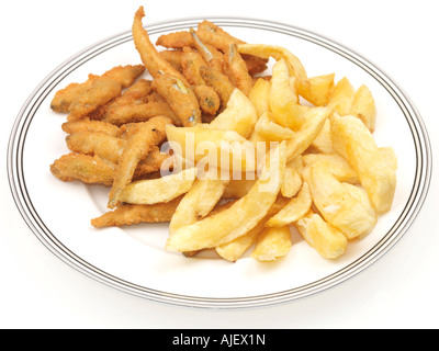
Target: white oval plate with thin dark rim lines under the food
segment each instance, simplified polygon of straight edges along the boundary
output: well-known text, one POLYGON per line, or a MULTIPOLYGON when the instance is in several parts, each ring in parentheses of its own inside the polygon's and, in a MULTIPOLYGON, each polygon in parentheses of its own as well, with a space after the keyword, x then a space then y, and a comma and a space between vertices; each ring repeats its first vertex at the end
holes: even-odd
MULTIPOLYGON (((168 32, 194 27, 203 19, 146 26, 153 42, 168 32)), ((244 257, 236 263, 198 256, 192 259, 165 250, 168 226, 145 224, 95 229, 90 219, 106 211, 108 189, 65 183, 49 165, 68 152, 60 128, 65 115, 50 111, 54 93, 119 65, 139 64, 131 32, 125 32, 71 57, 31 94, 13 126, 8 172, 16 206, 40 240, 58 258, 88 276, 151 301, 192 307, 264 306, 322 292, 359 273, 382 257, 407 231, 427 194, 431 151, 423 121, 402 90, 370 61, 320 35, 288 24, 241 18, 210 18, 248 42, 281 45, 304 64, 309 77, 336 73, 354 88, 367 84, 378 107, 375 140, 392 146, 398 158, 397 188, 392 210, 374 230, 351 242, 344 257, 328 261, 293 234, 283 259, 260 263, 244 257)))

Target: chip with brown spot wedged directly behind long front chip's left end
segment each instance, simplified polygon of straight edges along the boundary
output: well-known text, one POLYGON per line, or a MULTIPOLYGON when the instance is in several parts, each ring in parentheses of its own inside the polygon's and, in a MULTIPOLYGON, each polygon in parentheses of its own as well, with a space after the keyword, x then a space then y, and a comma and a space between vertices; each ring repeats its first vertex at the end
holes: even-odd
POLYGON ((169 224, 172 235, 178 228, 204 218, 223 196, 228 180, 198 179, 184 194, 169 224))

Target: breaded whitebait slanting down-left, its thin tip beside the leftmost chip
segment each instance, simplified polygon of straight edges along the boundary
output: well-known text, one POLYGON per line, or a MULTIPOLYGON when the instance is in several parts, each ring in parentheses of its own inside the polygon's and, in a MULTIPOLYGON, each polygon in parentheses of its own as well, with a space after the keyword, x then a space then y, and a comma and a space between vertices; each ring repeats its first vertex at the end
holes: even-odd
POLYGON ((136 123, 137 131, 127 140, 114 171, 114 181, 109 194, 109 207, 114 208, 117 196, 131 182, 139 160, 146 157, 155 146, 166 137, 165 126, 172 123, 170 118, 157 116, 148 122, 136 123))

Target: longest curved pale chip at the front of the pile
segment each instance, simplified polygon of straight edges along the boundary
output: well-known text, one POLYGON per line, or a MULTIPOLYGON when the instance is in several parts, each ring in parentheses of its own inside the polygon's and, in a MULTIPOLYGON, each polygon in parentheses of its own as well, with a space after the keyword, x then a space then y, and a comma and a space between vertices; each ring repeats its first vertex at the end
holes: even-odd
POLYGON ((169 236, 167 249, 193 251, 229 242, 254 228, 275 202, 285 171, 284 144, 270 151, 261 178, 230 207, 169 236))

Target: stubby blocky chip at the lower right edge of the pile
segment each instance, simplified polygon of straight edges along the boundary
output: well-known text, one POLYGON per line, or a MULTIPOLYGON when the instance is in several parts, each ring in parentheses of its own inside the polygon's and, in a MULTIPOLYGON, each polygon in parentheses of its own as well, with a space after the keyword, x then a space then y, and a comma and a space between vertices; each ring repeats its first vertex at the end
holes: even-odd
POLYGON ((326 259, 337 259, 348 248, 344 234, 312 211, 295 226, 306 242, 326 259))

